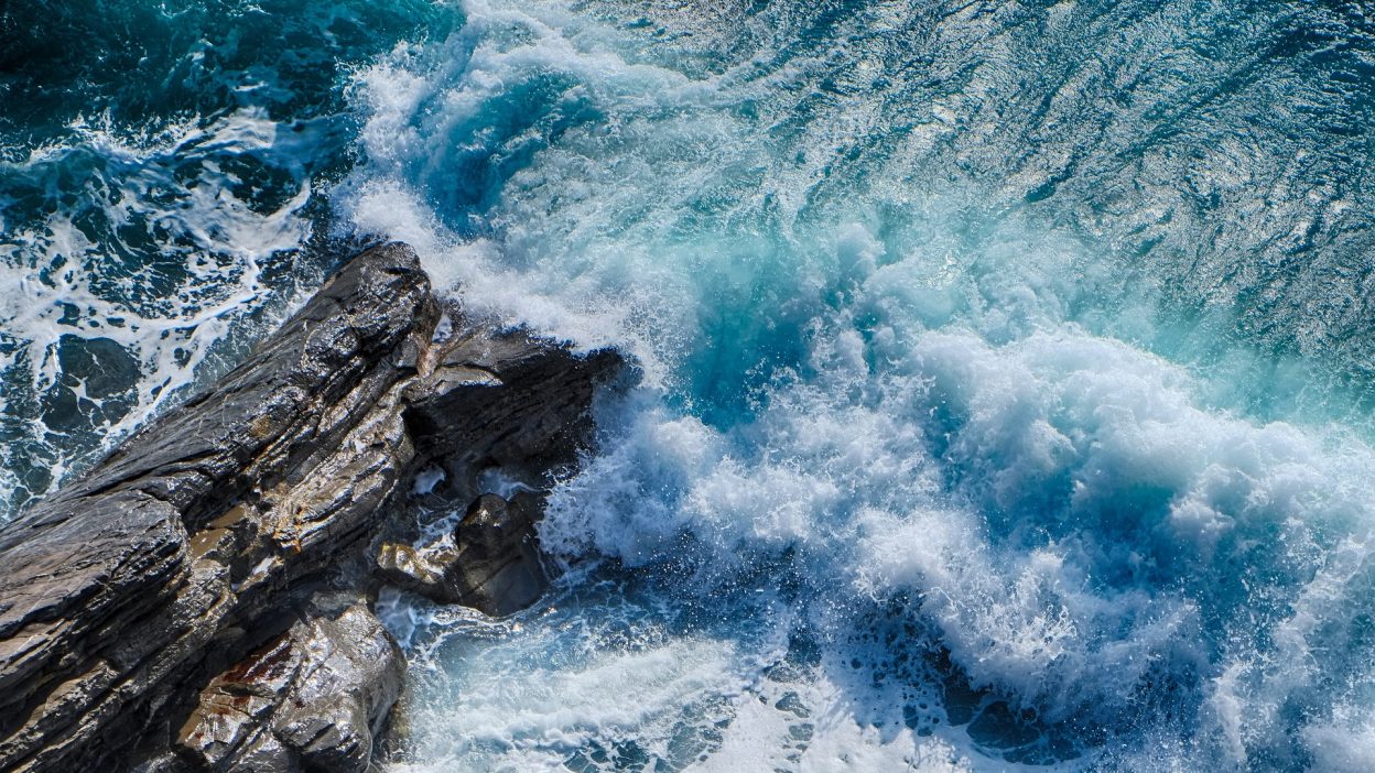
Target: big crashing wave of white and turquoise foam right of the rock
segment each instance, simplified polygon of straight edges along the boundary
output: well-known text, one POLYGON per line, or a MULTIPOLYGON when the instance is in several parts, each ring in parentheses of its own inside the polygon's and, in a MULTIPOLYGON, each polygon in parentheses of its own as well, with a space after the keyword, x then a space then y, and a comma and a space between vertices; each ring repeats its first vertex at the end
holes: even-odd
MULTIPOLYGON (((466 304, 645 367, 598 417, 600 453, 556 490, 547 550, 672 567, 686 579, 666 602, 730 608, 786 585, 789 615, 828 631, 876 605, 910 616, 967 686, 1042 728, 1103 728, 1115 759, 1145 767, 1244 766, 1331 734, 1314 685, 1371 673, 1332 623, 1365 604, 1367 442, 1247 415, 1255 389, 1232 377, 1262 355, 1238 348, 1217 377, 1170 362, 1192 355, 1160 323, 1155 279, 1125 279, 1079 234, 989 205, 989 188, 925 179, 914 160, 958 106, 892 136, 891 106, 864 89, 788 96, 833 52, 703 70, 557 6, 463 11, 454 39, 360 74, 368 160, 340 199, 360 230, 412 242, 466 304), (884 153, 865 155, 868 140, 884 153), (1174 714, 1138 714, 1151 700, 1174 714), (1283 719, 1295 707, 1317 717, 1306 730, 1283 719)), ((971 78, 969 98, 987 96, 971 78)), ((1008 186, 1044 183, 1033 166, 1008 186)), ((571 692, 506 706, 538 717, 491 737, 554 737, 583 712, 638 733, 653 722, 587 703, 598 679, 634 689, 619 668, 664 668, 672 700, 729 695, 747 648, 679 644, 663 651, 692 675, 622 655, 542 673, 571 692)), ((822 646, 844 659, 852 642, 822 646)), ((708 765, 795 751, 778 741, 791 725, 740 700, 708 765)), ((851 712, 802 759, 996 754, 960 732, 896 734, 851 712)))

